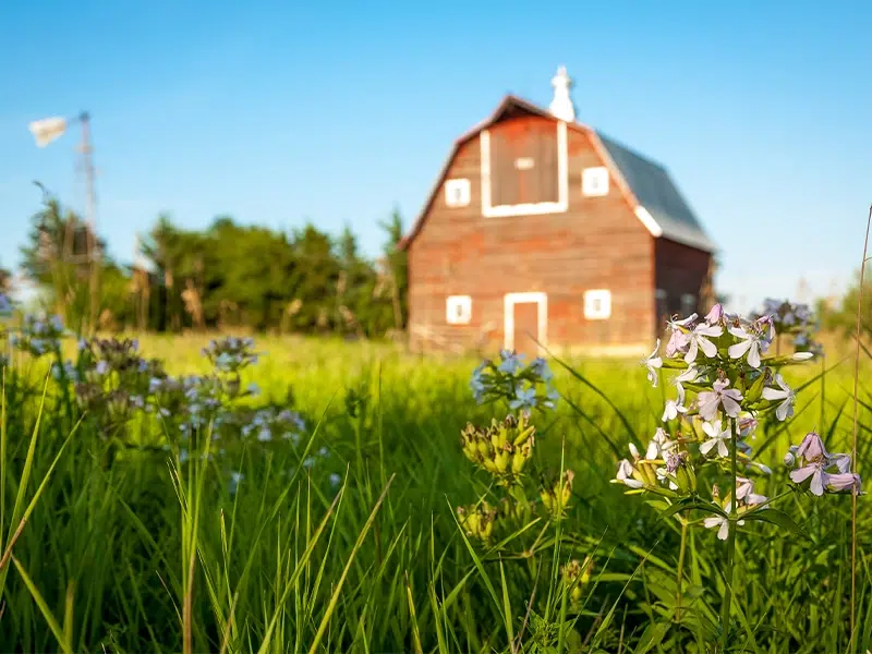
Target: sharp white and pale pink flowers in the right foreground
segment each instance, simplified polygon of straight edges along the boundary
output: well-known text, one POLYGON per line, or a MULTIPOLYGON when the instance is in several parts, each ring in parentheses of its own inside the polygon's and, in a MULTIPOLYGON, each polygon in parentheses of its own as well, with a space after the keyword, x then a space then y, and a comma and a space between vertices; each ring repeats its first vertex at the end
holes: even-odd
MULTIPOLYGON (((772 470, 754 461, 749 441, 761 417, 792 416, 796 392, 782 372, 814 356, 809 351, 772 355, 777 329, 785 322, 802 325, 808 319, 801 306, 780 303, 773 308, 780 312, 777 317, 744 318, 716 304, 702 318, 693 314, 668 322, 663 354, 658 340, 643 364, 654 386, 664 368, 677 371, 675 396, 661 416, 664 427, 657 428, 644 453, 630 445, 631 456, 619 462, 614 483, 626 486, 628 494, 652 493, 667 502, 692 500, 691 508, 708 513, 703 524, 717 528, 720 538, 728 537, 731 524, 760 519, 771 502, 756 493, 751 474, 772 470), (711 501, 701 498, 698 486, 705 471, 727 477, 729 491, 723 497, 715 483, 710 486, 711 501)), ((816 435, 791 448, 786 462, 798 465, 791 480, 798 484, 811 480, 815 495, 859 492, 859 476, 848 472, 850 459, 828 455, 816 435)))

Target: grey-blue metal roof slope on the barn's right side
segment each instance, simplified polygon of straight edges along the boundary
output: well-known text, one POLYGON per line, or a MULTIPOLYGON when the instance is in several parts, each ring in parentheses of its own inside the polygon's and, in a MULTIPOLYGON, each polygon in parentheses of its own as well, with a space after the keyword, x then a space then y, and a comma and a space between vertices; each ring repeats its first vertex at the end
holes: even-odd
POLYGON ((615 161, 639 204, 643 206, 670 241, 714 252, 714 242, 703 230, 693 210, 675 185, 669 172, 628 147, 597 132, 596 135, 615 161))

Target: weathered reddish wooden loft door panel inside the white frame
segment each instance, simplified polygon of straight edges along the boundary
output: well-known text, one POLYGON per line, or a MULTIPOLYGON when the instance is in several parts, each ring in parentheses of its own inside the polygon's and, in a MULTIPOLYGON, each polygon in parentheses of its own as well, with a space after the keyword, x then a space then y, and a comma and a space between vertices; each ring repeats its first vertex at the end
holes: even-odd
POLYGON ((557 125, 508 121, 491 135, 491 203, 559 202, 557 125))

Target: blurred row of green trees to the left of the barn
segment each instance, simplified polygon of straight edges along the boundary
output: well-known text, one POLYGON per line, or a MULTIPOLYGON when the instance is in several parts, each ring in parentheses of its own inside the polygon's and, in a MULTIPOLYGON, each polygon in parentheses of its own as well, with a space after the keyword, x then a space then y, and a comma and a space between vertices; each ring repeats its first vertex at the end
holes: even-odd
POLYGON ((218 217, 205 230, 186 230, 164 215, 143 239, 141 261, 122 264, 107 256, 104 240, 80 216, 46 196, 21 254, 40 301, 82 331, 96 323, 105 330, 373 338, 401 331, 407 319, 399 213, 380 228, 383 253, 371 261, 349 227, 338 235, 312 223, 286 233, 218 217))

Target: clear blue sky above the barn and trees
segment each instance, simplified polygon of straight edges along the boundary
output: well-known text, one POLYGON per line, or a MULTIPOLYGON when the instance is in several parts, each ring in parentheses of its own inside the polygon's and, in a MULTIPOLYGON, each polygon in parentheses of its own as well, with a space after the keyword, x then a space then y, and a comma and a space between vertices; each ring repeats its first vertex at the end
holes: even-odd
POLYGON ((130 261, 167 210, 349 223, 364 251, 407 225, 456 136, 506 93, 547 106, 564 63, 581 122, 667 166, 722 249, 718 289, 840 290, 872 202, 872 3, 11 2, 0 9, 0 264, 40 180, 82 206, 93 116, 101 233, 130 261), (825 9, 826 8, 826 9, 825 9))

